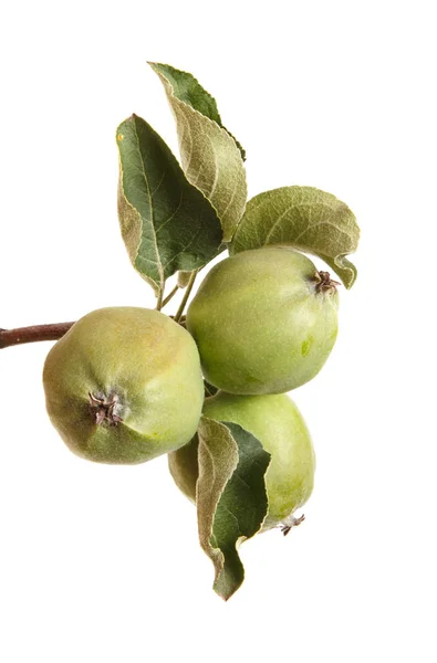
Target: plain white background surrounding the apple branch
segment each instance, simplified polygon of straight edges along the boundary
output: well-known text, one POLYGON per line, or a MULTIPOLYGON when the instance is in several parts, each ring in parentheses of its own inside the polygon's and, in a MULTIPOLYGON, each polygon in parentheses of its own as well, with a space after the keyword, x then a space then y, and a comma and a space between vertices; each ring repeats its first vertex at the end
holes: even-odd
POLYGON ((305 523, 241 548, 223 603, 162 457, 72 455, 49 344, 0 352, 0 659, 436 661, 436 59, 431 2, 14 2, 1 11, 0 326, 153 306, 116 217, 115 129, 176 150, 146 61, 193 72, 248 152, 249 193, 315 186, 356 213, 360 276, 294 392, 318 453, 305 523))

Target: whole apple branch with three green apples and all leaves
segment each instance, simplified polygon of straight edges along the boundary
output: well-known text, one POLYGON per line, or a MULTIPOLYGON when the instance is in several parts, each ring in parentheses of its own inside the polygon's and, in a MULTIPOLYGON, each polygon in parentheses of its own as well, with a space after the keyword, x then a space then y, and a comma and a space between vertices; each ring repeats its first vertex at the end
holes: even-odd
POLYGON ((306 255, 351 288, 346 256, 360 228, 344 202, 314 187, 248 200, 246 150, 216 99, 190 73, 149 64, 176 120, 180 162, 136 114, 115 136, 121 233, 156 308, 0 329, 0 348, 59 339, 44 364, 46 409, 75 454, 112 464, 168 455, 227 600, 244 578, 239 545, 303 519, 295 512, 312 493, 315 457, 288 392, 326 361, 339 304, 339 283, 306 255), (177 284, 167 294, 168 278, 177 284), (184 288, 176 314, 164 313, 184 288))

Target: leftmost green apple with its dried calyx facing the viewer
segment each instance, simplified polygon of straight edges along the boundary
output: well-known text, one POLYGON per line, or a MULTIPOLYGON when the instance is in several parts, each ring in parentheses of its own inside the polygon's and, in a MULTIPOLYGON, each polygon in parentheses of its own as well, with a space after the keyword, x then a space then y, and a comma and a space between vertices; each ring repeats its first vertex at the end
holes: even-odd
POLYGON ((147 308, 101 308, 77 320, 50 350, 43 385, 65 444, 100 463, 143 463, 183 446, 204 402, 195 341, 147 308))

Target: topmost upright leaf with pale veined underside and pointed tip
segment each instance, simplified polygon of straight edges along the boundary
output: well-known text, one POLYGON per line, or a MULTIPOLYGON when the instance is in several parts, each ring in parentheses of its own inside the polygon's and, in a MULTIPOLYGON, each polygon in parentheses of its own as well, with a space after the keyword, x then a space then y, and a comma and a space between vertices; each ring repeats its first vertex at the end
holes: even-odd
POLYGON ((158 74, 174 112, 180 157, 188 180, 211 201, 232 238, 247 200, 242 151, 221 125, 215 99, 186 72, 149 63, 158 74))

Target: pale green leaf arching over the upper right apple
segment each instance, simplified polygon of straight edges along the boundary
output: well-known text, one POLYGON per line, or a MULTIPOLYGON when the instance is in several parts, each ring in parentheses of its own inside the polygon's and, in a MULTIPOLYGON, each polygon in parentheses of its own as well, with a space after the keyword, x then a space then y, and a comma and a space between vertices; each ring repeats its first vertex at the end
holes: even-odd
POLYGON ((350 288, 360 228, 348 207, 313 187, 283 187, 252 198, 229 246, 231 254, 271 244, 293 246, 324 260, 350 288))

